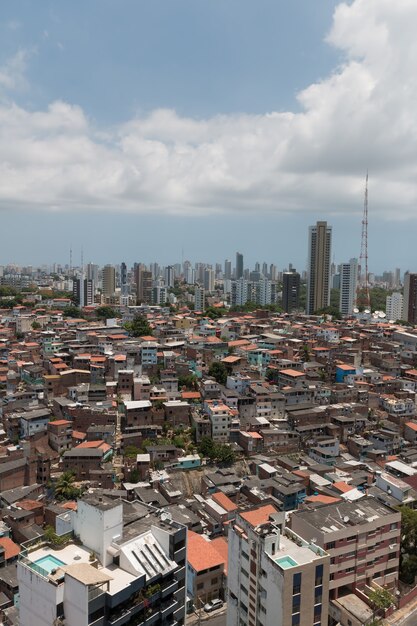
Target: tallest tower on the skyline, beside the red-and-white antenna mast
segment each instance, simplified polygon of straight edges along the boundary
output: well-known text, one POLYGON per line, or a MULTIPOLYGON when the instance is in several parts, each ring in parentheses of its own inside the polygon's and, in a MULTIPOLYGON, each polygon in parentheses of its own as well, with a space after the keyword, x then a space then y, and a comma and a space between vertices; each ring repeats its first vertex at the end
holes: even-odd
POLYGON ((307 314, 330 305, 332 227, 327 222, 310 226, 308 236, 307 314))

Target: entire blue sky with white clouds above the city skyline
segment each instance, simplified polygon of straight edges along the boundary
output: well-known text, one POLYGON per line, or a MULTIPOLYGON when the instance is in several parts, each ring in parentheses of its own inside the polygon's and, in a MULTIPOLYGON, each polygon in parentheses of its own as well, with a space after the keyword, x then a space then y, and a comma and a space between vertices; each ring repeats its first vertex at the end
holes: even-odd
POLYGON ((0 4, 0 264, 417 271, 415 0, 0 4))

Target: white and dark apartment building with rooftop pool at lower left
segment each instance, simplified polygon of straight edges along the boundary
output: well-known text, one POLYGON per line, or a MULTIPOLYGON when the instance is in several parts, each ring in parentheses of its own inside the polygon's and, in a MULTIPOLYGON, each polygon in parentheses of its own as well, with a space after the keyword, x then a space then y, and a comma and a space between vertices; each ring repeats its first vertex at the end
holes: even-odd
POLYGON ((23 546, 21 626, 184 624, 187 529, 166 513, 134 507, 88 495, 67 515, 77 543, 23 546), (125 505, 135 521, 124 522, 125 505))

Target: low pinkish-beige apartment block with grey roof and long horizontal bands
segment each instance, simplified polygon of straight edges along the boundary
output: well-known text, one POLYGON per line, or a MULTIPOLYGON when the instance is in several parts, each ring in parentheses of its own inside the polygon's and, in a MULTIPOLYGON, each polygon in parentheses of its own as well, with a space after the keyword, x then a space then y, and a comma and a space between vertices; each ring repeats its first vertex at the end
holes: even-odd
POLYGON ((291 528, 314 538, 330 555, 330 598, 373 581, 393 587, 398 580, 401 514, 373 497, 306 507, 291 516, 291 528))

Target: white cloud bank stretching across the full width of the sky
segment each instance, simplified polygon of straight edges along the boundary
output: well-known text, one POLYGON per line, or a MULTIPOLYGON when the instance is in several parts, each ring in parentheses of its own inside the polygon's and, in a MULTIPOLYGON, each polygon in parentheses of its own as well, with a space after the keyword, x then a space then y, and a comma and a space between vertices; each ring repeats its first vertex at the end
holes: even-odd
MULTIPOLYGON (((361 212, 416 217, 417 3, 354 0, 327 36, 343 64, 301 112, 180 117, 155 110, 97 129, 77 106, 0 106, 0 208, 217 215, 361 212)), ((0 68, 15 89, 26 57, 0 68)), ((20 78, 19 78, 20 77, 20 78)))

